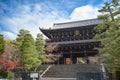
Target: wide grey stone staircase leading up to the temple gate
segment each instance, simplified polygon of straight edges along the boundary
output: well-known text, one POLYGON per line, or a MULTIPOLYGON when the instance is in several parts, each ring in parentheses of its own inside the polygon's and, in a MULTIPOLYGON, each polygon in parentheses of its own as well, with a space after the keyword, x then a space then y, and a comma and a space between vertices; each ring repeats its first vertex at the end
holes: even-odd
MULTIPOLYGON (((77 73, 100 73, 99 64, 69 64, 69 65, 52 65, 42 78, 64 78, 59 80, 76 80, 77 73), (65 79, 66 78, 66 79, 65 79)), ((44 79, 46 80, 46 79, 44 79)), ((57 80, 57 79, 56 79, 57 80)))

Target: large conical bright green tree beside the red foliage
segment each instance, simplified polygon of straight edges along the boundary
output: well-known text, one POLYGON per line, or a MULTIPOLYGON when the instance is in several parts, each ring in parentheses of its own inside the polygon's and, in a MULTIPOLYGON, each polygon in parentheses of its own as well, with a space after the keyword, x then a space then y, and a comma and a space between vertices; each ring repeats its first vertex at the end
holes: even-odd
POLYGON ((21 45, 21 65, 25 70, 31 70, 33 68, 35 70, 41 64, 41 61, 38 59, 38 57, 39 55, 36 51, 32 35, 26 34, 21 45))

